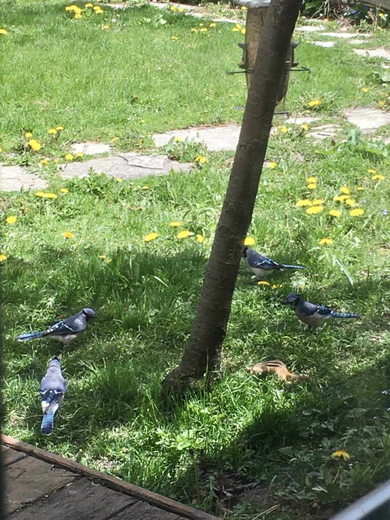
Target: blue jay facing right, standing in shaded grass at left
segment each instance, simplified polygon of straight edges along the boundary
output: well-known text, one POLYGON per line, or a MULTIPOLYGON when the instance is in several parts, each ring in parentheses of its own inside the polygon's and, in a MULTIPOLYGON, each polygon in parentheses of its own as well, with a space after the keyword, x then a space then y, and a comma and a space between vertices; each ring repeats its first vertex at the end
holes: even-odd
POLYGON ((36 337, 53 337, 63 345, 68 345, 86 329, 89 318, 96 318, 96 314, 94 310, 86 308, 70 318, 55 323, 44 332, 20 334, 17 339, 28 341, 34 340, 36 337))

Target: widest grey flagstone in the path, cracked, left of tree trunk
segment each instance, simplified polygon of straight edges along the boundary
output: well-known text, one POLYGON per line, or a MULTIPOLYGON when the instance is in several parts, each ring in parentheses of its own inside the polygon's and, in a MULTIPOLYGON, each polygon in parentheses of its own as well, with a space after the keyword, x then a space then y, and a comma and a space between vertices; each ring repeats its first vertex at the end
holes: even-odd
POLYGON ((66 164, 61 176, 64 179, 86 177, 89 168, 105 173, 109 177, 135 179, 149 175, 166 175, 171 170, 187 172, 193 164, 171 161, 166 155, 147 155, 141 153, 121 153, 115 157, 102 157, 84 162, 66 164))

